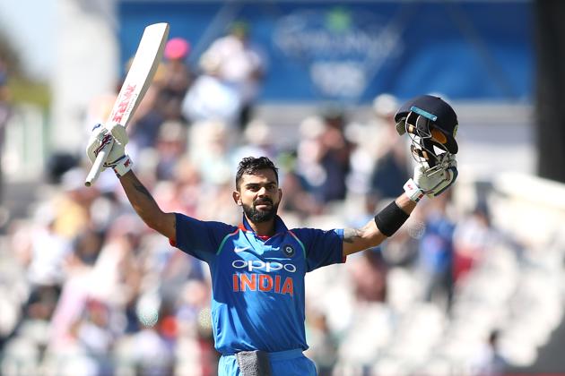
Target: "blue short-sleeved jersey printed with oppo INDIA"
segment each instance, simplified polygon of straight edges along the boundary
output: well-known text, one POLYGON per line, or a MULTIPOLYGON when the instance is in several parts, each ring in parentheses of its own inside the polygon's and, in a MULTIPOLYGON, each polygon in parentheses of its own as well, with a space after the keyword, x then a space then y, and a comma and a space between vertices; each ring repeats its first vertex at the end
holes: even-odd
POLYGON ((216 349, 306 350, 304 276, 344 261, 343 230, 289 230, 277 216, 275 235, 266 238, 245 217, 237 227, 176 216, 175 245, 210 267, 216 349))

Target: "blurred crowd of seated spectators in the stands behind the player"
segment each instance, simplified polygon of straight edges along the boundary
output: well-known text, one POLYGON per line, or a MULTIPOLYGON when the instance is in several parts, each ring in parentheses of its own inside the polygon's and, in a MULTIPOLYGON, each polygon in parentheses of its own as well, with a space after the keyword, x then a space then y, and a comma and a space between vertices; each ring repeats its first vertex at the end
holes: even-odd
MULTIPOLYGON (((289 227, 362 226, 412 175, 408 145, 395 132, 399 103, 378 95, 364 124, 343 108, 323 108, 297 124, 293 148, 282 148, 256 115, 268 72, 248 32, 235 24, 197 66, 187 63, 189 41, 169 41, 128 128, 136 174, 165 211, 237 224, 239 159, 265 155, 281 168, 279 214, 289 227)), ((89 128, 103 118, 92 111, 89 128)), ((219 355, 206 265, 145 226, 111 171, 85 188, 89 167, 86 158, 56 159, 30 218, 8 228, 0 373, 213 375, 219 355)), ((455 192, 424 199, 378 249, 307 276, 306 354, 320 375, 501 374, 500 320, 465 332, 465 348, 442 347, 470 325, 465 307, 477 299, 465 288, 477 270, 499 272, 491 251, 519 263, 519 247, 491 226, 487 201, 463 210, 455 192), (459 358, 448 354, 456 350, 459 358)))

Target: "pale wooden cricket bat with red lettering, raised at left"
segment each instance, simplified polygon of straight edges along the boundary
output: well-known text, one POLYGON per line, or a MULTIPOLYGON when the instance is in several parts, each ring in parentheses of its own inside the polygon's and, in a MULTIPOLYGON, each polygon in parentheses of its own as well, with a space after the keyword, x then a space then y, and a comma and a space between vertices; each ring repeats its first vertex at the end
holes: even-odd
MULTIPOLYGON (((151 85, 157 66, 161 62, 165 43, 169 36, 169 24, 153 23, 143 30, 143 36, 135 52, 134 60, 126 75, 122 89, 117 94, 116 102, 104 126, 112 130, 115 124, 127 126, 135 109, 141 103, 143 96, 151 85)), ((100 150, 92 164, 91 171, 86 176, 84 185, 90 187, 100 175, 113 142, 100 150)))

